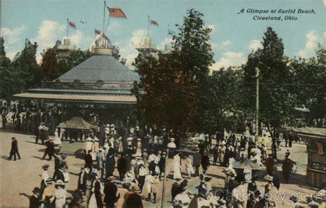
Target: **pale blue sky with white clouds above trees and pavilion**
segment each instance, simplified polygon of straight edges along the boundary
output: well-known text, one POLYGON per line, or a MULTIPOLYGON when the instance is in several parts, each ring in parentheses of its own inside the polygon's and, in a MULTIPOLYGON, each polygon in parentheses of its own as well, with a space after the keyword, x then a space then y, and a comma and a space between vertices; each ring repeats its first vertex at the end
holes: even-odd
MULTIPOLYGON (((41 51, 52 47, 66 34, 67 18, 76 23, 69 37, 77 48, 87 49, 94 40, 94 29, 102 30, 103 0, 2 0, 1 36, 5 38, 6 53, 14 58, 24 47, 25 38, 39 45, 41 51), (87 22, 85 24, 81 21, 87 22)), ((160 26, 150 26, 150 36, 158 49, 171 41, 167 25, 177 32, 175 24, 182 24, 186 10, 194 8, 204 14, 207 27, 213 29, 210 43, 215 54, 215 65, 220 67, 241 65, 250 51, 261 46, 263 33, 272 27, 283 39, 285 54, 290 57, 309 58, 318 43, 326 43, 326 11, 323 0, 111 0, 109 6, 120 7, 127 19, 110 19, 105 34, 113 45, 121 49, 122 58, 131 66, 147 32, 147 16, 160 26), (237 14, 245 9, 244 14, 237 14), (314 14, 248 14, 248 9, 314 10, 314 14), (253 16, 280 16, 283 21, 254 21, 253 16), (296 16, 296 21, 285 21, 285 16, 296 16)), ((107 22, 107 10, 105 11, 107 22)), ((105 26, 107 23, 105 24, 105 26)))

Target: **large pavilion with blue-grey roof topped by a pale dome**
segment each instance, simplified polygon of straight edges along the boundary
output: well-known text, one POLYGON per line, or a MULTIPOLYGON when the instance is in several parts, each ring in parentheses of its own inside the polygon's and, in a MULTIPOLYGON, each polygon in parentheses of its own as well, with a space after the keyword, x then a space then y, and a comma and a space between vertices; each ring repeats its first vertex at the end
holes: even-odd
MULTIPOLYGON (((66 41, 58 49, 65 51, 74 47, 66 41)), ((74 116, 88 111, 105 119, 103 122, 125 124, 137 101, 131 89, 139 76, 113 58, 112 49, 109 38, 99 34, 94 41, 93 56, 55 80, 42 82, 41 88, 13 97, 56 105, 62 112, 68 111, 74 116)))

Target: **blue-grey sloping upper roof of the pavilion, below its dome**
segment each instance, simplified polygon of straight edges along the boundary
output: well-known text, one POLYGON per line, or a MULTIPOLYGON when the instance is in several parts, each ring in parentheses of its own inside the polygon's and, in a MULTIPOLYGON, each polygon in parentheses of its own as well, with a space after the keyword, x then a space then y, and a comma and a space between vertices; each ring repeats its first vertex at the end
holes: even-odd
POLYGON ((61 82, 134 82, 139 80, 138 73, 122 65, 113 56, 94 55, 80 65, 70 69, 61 77, 61 82))

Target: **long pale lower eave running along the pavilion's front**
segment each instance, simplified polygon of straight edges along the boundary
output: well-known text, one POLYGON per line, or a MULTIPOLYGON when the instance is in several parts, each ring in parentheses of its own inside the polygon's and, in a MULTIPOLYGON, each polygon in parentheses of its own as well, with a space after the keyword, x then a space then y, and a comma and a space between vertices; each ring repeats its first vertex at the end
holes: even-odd
POLYGON ((52 100, 54 102, 84 102, 84 103, 118 103, 135 104, 134 95, 76 95, 76 94, 54 94, 54 93, 20 93, 13 95, 19 99, 30 100, 52 100))

